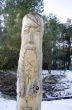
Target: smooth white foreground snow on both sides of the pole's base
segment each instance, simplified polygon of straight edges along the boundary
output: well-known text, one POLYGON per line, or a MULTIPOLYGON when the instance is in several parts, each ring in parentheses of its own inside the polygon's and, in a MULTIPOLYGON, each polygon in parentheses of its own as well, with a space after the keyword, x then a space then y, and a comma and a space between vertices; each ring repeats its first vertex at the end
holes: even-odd
MULTIPOLYGON (((16 110, 16 101, 1 97, 0 110, 16 110)), ((43 101, 41 110, 72 110, 72 99, 43 101)))

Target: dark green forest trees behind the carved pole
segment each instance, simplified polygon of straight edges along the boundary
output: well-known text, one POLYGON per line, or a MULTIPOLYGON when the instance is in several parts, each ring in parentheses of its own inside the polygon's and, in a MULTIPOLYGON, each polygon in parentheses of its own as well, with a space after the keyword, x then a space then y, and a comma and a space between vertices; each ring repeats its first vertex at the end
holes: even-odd
POLYGON ((44 19, 43 69, 72 70, 72 20, 43 14, 43 0, 0 0, 0 70, 17 70, 22 18, 29 12, 44 19))

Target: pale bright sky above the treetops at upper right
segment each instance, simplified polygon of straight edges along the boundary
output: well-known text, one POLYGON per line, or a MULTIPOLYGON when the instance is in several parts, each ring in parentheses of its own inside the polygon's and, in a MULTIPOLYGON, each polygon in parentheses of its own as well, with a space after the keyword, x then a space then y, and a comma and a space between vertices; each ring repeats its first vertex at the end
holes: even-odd
POLYGON ((44 0, 44 14, 53 13, 60 22, 72 19, 72 0, 44 0))

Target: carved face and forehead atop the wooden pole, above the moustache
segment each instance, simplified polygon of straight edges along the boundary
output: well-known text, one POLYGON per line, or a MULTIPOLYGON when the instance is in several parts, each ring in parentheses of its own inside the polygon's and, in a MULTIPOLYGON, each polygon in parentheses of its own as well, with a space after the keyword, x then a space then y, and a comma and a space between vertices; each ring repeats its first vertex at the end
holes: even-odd
POLYGON ((23 18, 22 24, 22 43, 34 43, 40 46, 40 41, 42 42, 43 20, 39 16, 28 14, 23 18))

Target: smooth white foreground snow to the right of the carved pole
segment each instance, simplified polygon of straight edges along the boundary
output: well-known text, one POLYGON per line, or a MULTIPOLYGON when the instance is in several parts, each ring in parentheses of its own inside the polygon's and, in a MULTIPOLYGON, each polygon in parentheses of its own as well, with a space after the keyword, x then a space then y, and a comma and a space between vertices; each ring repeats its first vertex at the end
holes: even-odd
POLYGON ((72 99, 43 101, 41 110, 72 110, 72 99))

